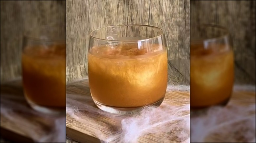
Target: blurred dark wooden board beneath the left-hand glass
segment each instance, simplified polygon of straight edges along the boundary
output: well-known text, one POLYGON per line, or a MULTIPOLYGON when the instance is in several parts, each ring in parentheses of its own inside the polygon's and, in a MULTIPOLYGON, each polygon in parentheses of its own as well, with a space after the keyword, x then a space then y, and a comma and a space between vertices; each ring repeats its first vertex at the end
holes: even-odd
MULTIPOLYGON (((49 116, 34 111, 23 95, 21 79, 1 84, 1 137, 14 142, 52 142, 65 133, 56 130, 56 120, 65 126, 65 115, 49 116), (60 135, 61 134, 61 135, 60 135), (49 137, 47 139, 47 137, 49 137)), ((63 127, 65 130, 65 127, 63 127)))

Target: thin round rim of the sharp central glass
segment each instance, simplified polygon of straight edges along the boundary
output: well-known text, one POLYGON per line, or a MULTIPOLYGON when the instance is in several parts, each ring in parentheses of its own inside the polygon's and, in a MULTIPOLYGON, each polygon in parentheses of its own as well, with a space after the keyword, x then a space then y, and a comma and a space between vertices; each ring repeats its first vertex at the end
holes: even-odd
POLYGON ((97 29, 94 29, 93 31, 90 32, 90 36, 94 39, 98 39, 98 40, 105 40, 105 41, 117 41, 117 42, 136 42, 136 41, 147 41, 147 40, 151 40, 151 39, 156 39, 158 37, 161 37, 164 35, 163 29, 160 27, 156 27, 156 26, 152 26, 152 25, 144 25, 144 24, 120 24, 120 25, 111 25, 111 26, 103 26, 97 29), (103 28, 108 28, 108 27, 115 27, 115 26, 143 26, 143 27, 151 27, 151 28, 155 28, 161 31, 161 34, 155 37, 150 37, 150 38, 145 38, 145 39, 140 39, 140 40, 109 40, 109 39, 103 39, 103 38, 98 38, 96 36, 93 36, 93 32, 98 31, 100 29, 103 28))

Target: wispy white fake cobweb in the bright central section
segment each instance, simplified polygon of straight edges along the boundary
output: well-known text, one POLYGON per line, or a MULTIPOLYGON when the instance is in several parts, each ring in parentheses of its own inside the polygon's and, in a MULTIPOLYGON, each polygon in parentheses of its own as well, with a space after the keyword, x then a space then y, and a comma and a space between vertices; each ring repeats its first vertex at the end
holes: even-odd
MULTIPOLYGON (((188 86, 168 86, 167 90, 189 90, 188 86)), ((189 99, 181 101, 164 100, 160 107, 145 107, 139 114, 124 117, 106 113, 96 108, 90 97, 67 94, 67 115, 93 127, 95 136, 102 143, 137 143, 143 135, 159 136, 155 142, 189 142, 189 99), (173 105, 170 105, 170 102, 173 105), (109 118, 112 124, 98 121, 109 118), (168 132, 168 133, 166 133, 168 132)), ((143 136, 145 137, 145 136, 143 136)), ((145 138, 143 139, 145 140, 145 138)))

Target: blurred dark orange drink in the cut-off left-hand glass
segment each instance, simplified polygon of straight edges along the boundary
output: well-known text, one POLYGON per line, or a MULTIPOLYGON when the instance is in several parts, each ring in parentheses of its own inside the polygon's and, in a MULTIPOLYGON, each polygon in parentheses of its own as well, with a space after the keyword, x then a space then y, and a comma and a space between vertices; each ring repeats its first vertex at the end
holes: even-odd
POLYGON ((30 102, 66 107, 66 45, 27 47, 22 55, 22 73, 30 102))

